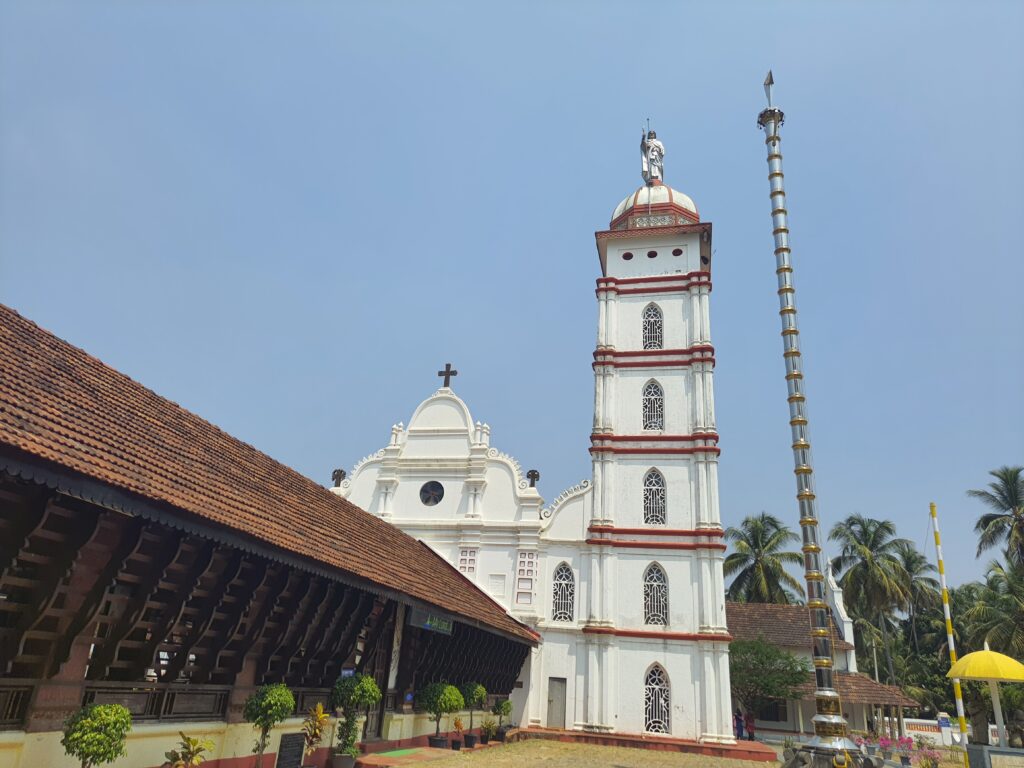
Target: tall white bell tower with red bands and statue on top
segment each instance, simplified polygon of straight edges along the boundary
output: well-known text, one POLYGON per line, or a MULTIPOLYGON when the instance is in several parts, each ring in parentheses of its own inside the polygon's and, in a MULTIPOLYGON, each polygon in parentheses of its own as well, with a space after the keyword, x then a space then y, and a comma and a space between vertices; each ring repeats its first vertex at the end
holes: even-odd
POLYGON ((620 701, 630 698, 643 679, 643 701, 635 701, 643 730, 658 732, 664 717, 665 732, 680 733, 676 723, 688 721, 703 740, 731 741, 712 226, 662 180, 665 151, 653 132, 644 137, 645 160, 655 144, 646 183, 596 233, 602 276, 584 628, 596 642, 587 720, 615 727, 606 718, 622 703, 608 697, 617 690, 620 701))

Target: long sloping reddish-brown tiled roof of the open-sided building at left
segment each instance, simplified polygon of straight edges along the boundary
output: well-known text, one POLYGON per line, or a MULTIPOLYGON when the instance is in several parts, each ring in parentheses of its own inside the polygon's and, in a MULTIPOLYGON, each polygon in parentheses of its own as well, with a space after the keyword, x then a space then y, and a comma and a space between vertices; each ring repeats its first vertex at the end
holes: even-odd
POLYGON ((0 446, 537 641, 429 548, 2 304, 0 446))

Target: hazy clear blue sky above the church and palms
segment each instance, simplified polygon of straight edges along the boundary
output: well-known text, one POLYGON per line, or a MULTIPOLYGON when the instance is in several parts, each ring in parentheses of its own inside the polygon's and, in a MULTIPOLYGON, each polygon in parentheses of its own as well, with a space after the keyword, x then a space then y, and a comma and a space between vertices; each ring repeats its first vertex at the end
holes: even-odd
POLYGON ((726 524, 797 518, 764 144, 783 129, 820 514, 981 574, 1024 464, 1024 4, 4 2, 0 301, 314 479, 446 360, 549 500, 589 476, 593 232, 715 223, 726 524))

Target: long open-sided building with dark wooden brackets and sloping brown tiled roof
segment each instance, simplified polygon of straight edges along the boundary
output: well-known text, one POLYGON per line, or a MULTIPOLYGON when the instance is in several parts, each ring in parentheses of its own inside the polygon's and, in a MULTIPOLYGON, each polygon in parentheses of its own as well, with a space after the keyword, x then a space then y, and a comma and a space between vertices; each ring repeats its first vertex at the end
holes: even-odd
POLYGON ((355 672, 384 692, 368 736, 415 735, 415 691, 507 696, 538 641, 429 547, 0 306, 0 729, 46 735, 4 742, 20 764, 63 765, 33 751, 118 702, 132 765, 173 721, 217 768, 256 686, 298 713, 355 672))

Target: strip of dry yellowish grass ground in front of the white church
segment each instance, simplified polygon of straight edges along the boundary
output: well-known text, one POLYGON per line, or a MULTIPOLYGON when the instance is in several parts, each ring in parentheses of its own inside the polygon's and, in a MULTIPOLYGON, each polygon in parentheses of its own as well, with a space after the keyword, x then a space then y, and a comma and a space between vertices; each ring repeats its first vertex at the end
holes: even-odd
POLYGON ((703 755, 595 746, 534 739, 487 750, 455 753, 424 763, 430 768, 772 768, 771 763, 724 760, 703 755))

